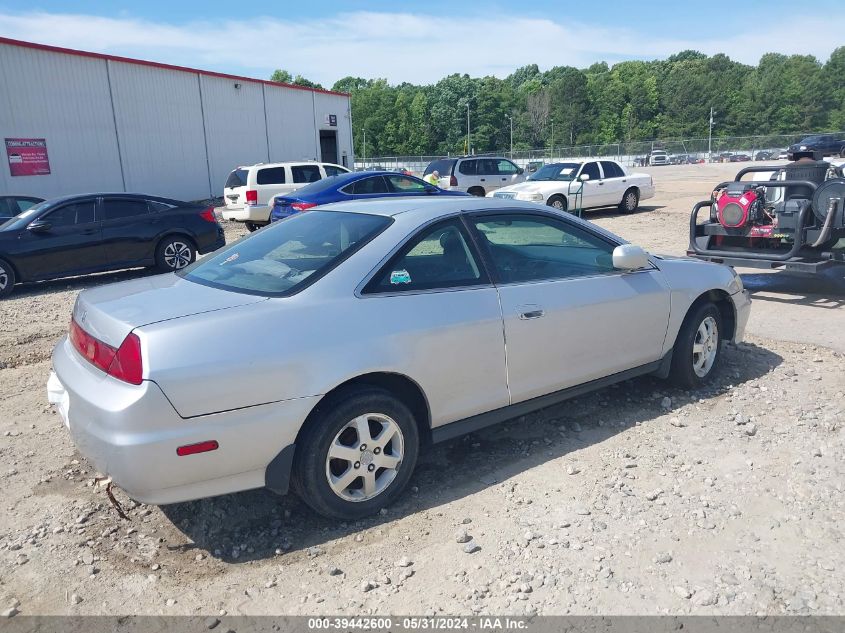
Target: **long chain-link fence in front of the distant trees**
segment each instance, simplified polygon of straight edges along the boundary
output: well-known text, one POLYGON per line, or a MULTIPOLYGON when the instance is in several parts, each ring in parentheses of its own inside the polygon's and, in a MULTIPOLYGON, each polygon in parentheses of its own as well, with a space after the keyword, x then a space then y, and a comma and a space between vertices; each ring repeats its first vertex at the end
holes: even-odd
MULTIPOLYGON (((834 133, 837 138, 845 139, 845 132, 834 133)), ((532 162, 554 162, 571 159, 612 158, 626 167, 643 165, 649 154, 663 150, 669 154, 669 161, 686 163, 695 161, 729 161, 735 154, 745 154, 751 160, 773 160, 784 153, 786 148, 797 143, 811 133, 769 134, 762 136, 728 136, 692 139, 666 139, 660 141, 634 141, 630 143, 610 143, 606 145, 578 145, 574 147, 554 147, 545 149, 509 150, 487 152, 478 156, 504 156, 516 164, 527 167, 532 162)), ((421 175, 426 166, 441 156, 379 156, 356 159, 358 169, 406 169, 421 175)))

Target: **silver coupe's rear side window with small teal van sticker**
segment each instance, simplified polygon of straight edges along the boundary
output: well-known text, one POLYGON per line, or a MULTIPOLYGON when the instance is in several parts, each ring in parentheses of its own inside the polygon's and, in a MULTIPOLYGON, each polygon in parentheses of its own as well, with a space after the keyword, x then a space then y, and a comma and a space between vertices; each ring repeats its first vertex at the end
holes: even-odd
POLYGON ((460 220, 427 227, 367 284, 364 293, 409 292, 487 283, 460 220))

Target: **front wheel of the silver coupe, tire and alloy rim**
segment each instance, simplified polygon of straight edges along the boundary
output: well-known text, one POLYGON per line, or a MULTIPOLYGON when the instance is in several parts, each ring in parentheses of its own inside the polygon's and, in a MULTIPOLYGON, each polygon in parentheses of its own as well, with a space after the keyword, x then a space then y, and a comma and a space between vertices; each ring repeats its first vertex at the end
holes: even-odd
POLYGON ((722 353, 722 313, 712 302, 702 303, 684 319, 672 350, 669 381, 694 389, 706 383, 719 366, 722 353))

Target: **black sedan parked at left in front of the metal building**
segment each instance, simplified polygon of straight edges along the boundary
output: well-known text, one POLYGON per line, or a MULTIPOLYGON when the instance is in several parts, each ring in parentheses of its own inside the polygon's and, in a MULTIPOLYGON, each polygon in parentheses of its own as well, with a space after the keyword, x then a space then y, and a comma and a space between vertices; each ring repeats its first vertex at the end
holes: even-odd
POLYGON ((0 297, 25 281, 139 266, 180 270, 225 243, 208 206, 127 193, 55 198, 0 225, 0 297))

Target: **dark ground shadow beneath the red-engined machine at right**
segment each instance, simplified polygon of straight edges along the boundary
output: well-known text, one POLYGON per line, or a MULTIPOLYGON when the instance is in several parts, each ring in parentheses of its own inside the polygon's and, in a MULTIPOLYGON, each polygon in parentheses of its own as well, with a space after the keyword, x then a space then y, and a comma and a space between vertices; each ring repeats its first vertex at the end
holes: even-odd
POLYGON ((755 301, 827 309, 845 306, 845 266, 828 268, 818 274, 774 271, 742 273, 740 276, 755 301))

